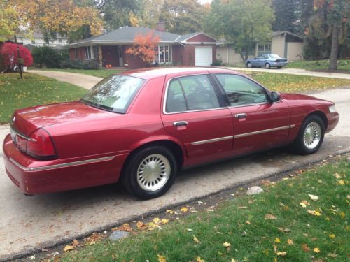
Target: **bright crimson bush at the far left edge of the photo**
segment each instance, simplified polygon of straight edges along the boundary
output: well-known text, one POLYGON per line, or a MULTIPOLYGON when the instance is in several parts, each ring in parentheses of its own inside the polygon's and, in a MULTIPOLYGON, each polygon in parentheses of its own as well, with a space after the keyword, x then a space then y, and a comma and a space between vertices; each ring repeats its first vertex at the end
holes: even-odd
POLYGON ((23 45, 15 43, 5 43, 1 46, 0 54, 3 57, 3 62, 8 69, 12 69, 18 65, 18 50, 20 48, 20 59, 22 59, 22 66, 31 66, 33 64, 33 57, 31 52, 23 45))

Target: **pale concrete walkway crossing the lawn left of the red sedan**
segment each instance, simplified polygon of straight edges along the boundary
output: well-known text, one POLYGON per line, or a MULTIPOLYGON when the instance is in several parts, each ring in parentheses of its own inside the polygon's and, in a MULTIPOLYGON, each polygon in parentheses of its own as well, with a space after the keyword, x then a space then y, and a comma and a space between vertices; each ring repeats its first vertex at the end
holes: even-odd
POLYGON ((78 85, 79 87, 83 87, 85 89, 91 89, 94 85, 103 79, 82 73, 70 73, 61 71, 29 70, 28 72, 47 76, 48 78, 55 78, 63 82, 69 82, 73 85, 78 85))

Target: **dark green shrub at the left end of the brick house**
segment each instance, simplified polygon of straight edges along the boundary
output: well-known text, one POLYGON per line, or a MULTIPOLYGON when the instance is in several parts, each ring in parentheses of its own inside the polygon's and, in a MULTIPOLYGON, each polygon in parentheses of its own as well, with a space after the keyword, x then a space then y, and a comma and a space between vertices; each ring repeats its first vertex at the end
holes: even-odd
POLYGON ((55 50, 49 46, 40 46, 33 49, 34 64, 38 68, 60 68, 61 62, 68 58, 66 50, 55 50))

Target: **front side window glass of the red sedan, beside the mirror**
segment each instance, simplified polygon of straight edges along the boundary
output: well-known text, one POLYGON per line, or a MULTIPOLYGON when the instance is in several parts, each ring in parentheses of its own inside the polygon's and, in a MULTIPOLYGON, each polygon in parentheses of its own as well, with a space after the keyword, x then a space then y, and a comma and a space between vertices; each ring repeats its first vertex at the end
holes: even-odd
POLYGON ((216 75, 231 106, 250 105, 254 103, 268 103, 266 91, 263 87, 241 75, 216 75))

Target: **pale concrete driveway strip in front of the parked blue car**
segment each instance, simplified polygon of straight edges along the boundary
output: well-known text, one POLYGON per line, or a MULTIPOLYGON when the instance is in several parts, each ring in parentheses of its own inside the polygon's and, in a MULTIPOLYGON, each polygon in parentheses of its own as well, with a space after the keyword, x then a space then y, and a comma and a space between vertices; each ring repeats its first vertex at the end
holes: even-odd
POLYGON ((340 78, 340 79, 349 79, 350 73, 328 73, 328 72, 315 72, 315 71, 307 71, 305 69, 299 68, 245 68, 245 67, 225 67, 235 71, 255 71, 255 72, 267 72, 267 73, 288 73, 290 75, 307 75, 307 76, 316 76, 319 78, 340 78))

